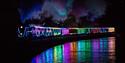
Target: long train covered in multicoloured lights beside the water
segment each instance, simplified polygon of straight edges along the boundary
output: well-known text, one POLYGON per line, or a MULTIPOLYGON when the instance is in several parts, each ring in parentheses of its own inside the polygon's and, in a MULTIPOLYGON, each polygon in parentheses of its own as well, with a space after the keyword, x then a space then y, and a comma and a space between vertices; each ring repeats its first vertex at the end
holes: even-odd
MULTIPOLYGON (((23 28, 21 26, 21 28, 23 28)), ((57 35, 72 35, 72 34, 89 34, 89 33, 105 33, 115 32, 114 27, 92 27, 92 28, 56 28, 56 27, 41 27, 30 25, 25 27, 21 32, 18 28, 18 37, 48 37, 57 35)))

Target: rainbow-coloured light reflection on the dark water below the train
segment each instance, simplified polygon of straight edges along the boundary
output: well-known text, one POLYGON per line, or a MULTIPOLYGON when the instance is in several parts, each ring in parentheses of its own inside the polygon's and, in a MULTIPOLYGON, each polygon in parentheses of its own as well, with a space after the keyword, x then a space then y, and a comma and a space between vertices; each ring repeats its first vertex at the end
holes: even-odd
POLYGON ((58 45, 37 55, 31 63, 115 63, 115 37, 58 45))

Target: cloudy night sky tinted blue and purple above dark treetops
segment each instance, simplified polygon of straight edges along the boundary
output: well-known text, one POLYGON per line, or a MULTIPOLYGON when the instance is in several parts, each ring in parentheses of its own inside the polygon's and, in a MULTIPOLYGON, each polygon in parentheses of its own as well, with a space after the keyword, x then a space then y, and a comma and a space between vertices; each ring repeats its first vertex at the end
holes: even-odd
POLYGON ((89 16, 90 21, 105 15, 106 2, 103 0, 20 0, 18 8, 21 22, 26 19, 40 19, 39 14, 48 11, 54 20, 64 21, 69 13, 76 18, 89 16))

